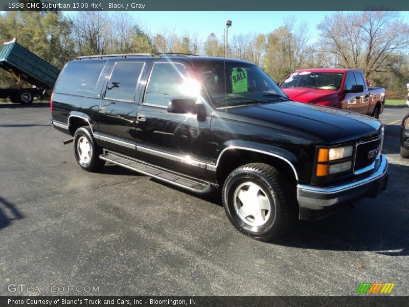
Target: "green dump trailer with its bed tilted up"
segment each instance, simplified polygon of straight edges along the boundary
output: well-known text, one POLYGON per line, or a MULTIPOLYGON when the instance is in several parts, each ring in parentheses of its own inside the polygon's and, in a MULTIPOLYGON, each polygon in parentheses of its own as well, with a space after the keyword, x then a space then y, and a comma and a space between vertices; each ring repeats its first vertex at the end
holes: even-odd
POLYGON ((43 97, 45 90, 54 87, 60 70, 28 49, 18 45, 16 39, 6 42, 0 49, 0 68, 11 73, 16 79, 16 88, 1 89, 0 98, 9 98, 11 102, 29 104, 34 97, 43 97), (24 80, 33 87, 22 88, 24 80))

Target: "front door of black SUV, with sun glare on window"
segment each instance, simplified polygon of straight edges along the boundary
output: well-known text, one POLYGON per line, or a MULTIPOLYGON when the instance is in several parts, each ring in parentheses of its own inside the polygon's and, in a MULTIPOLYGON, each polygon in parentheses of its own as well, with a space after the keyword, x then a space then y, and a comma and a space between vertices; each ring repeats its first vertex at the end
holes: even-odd
MULTIPOLYGON (((210 115, 168 113, 169 101, 188 97, 188 63, 156 61, 153 64, 137 115, 138 157, 197 178, 206 178, 206 141, 210 115)), ((197 98, 197 97, 196 97, 197 98)))

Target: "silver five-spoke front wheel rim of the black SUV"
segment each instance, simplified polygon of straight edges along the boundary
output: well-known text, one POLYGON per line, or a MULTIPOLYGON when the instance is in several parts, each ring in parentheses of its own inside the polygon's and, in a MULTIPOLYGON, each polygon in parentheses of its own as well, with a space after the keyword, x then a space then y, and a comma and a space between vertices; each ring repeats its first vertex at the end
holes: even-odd
POLYGON ((243 222, 250 226, 264 225, 271 214, 267 193, 254 182, 239 185, 234 192, 234 208, 243 222))

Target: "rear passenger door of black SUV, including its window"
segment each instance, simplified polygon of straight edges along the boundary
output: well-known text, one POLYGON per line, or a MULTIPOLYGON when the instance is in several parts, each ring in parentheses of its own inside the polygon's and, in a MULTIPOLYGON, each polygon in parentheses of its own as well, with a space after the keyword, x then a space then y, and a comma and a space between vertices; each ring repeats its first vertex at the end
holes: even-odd
POLYGON ((111 60, 111 72, 99 104, 98 127, 103 147, 137 155, 135 97, 142 91, 140 80, 150 64, 144 59, 111 60))

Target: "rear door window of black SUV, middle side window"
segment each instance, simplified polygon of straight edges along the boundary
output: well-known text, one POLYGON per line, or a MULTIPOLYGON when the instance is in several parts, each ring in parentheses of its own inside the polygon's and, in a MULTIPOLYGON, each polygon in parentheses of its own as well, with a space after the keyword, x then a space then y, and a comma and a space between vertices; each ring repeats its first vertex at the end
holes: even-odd
POLYGON ((133 102, 144 62, 117 62, 106 86, 105 98, 133 102))

